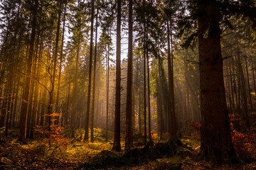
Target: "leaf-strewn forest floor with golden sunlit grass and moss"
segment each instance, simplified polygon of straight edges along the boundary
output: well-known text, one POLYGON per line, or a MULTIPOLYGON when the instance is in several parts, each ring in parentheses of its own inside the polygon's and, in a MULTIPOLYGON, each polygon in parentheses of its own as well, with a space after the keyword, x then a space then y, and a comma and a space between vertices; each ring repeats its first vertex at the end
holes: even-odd
MULTIPOLYGON (((126 154, 124 142, 122 142, 122 152, 111 152, 112 142, 104 142, 101 133, 101 129, 95 130, 96 140, 93 143, 82 142, 82 131, 80 130, 76 133, 77 137, 73 140, 62 137, 55 138, 50 141, 49 145, 48 139, 38 138, 27 140, 26 144, 21 145, 16 142, 17 130, 12 130, 9 133, 9 138, 0 137, 0 169, 256 169, 256 162, 219 167, 201 162, 196 157, 200 143, 194 138, 181 140, 183 146, 191 148, 190 152, 184 152, 188 153, 187 155, 175 154, 171 158, 163 157, 169 160, 169 162, 174 162, 174 168, 160 165, 159 159, 143 159, 142 162, 137 162, 136 164, 126 163, 120 160, 126 154), (101 156, 99 157, 99 155, 101 156), (91 162, 94 162, 93 164, 97 164, 97 166, 93 166, 91 162), (115 162, 121 164, 116 164, 115 162), (110 165, 105 166, 104 164, 110 165)), ((110 137, 112 137, 111 133, 110 137)), ((143 147, 138 146, 142 143, 135 142, 135 144, 137 144, 138 149, 136 152, 130 153, 130 155, 134 153, 142 154, 140 151, 142 151, 143 147)))

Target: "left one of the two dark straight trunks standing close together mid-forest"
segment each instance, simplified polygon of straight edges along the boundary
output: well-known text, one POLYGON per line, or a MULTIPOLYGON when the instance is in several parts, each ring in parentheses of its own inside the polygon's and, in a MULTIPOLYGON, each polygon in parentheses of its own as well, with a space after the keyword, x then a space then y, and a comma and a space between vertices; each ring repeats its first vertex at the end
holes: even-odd
POLYGON ((120 151, 120 109, 121 109, 121 0, 117 0, 117 65, 114 111, 114 144, 113 150, 120 151))

